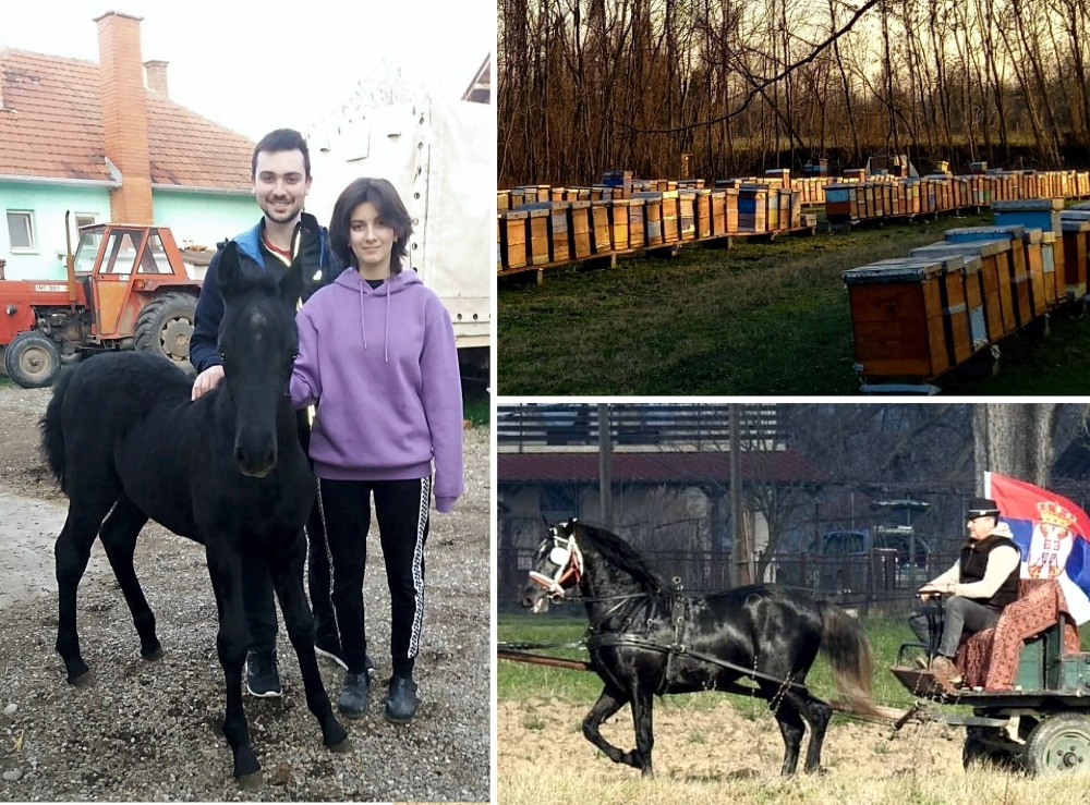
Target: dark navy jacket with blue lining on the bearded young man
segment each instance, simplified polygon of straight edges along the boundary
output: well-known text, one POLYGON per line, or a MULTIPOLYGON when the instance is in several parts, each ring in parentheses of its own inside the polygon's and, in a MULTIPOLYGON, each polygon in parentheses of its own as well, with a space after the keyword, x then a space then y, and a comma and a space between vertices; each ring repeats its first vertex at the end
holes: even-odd
MULTIPOLYGON (((252 229, 233 239, 239 244, 239 266, 243 273, 269 271, 279 277, 286 268, 280 260, 270 260, 268 266, 265 264, 265 253, 262 251, 263 221, 258 221, 252 229)), ((303 230, 300 243, 303 257, 302 301, 306 302, 312 293, 337 279, 341 266, 329 249, 329 234, 326 228, 319 227, 314 216, 303 212, 300 227, 303 230)), ((193 336, 190 338, 190 363, 197 373, 223 363, 218 347, 219 326, 223 321, 223 294, 219 290, 219 256, 223 253, 227 242, 219 245, 220 248, 208 264, 204 282, 201 284, 193 336)))

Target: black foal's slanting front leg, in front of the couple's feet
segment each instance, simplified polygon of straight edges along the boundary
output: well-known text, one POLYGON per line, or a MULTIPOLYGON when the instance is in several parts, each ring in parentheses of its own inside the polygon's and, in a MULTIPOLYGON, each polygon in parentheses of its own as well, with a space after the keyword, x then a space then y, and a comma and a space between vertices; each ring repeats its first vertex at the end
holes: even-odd
POLYGON ((286 556, 269 563, 272 586, 280 599, 280 611, 288 627, 288 638, 299 658, 299 670, 303 674, 303 690, 306 692, 306 707, 318 719, 322 728, 322 742, 335 752, 348 752, 352 748, 348 732, 334 716, 322 684, 318 671, 318 660, 314 654, 314 619, 306 603, 303 591, 303 564, 306 553, 306 540, 300 535, 293 540, 286 556))

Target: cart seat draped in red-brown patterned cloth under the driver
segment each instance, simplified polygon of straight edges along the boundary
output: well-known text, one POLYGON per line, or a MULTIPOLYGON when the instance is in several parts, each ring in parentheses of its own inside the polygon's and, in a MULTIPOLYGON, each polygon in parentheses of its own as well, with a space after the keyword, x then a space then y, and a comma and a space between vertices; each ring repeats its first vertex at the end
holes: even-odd
POLYGON ((1057 623, 1063 654, 1077 652, 1079 632, 1059 583, 1051 578, 1020 580, 1018 599, 1003 610, 995 626, 962 638, 955 662, 965 686, 1013 690, 1022 644, 1057 623))

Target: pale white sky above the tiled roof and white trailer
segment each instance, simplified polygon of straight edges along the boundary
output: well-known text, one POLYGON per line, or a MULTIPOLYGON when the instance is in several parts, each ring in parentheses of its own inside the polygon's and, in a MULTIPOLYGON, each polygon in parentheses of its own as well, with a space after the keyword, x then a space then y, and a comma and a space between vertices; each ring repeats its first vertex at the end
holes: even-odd
POLYGON ((171 99, 254 141, 283 126, 305 133, 349 102, 361 80, 388 81, 391 69, 433 99, 457 100, 496 47, 495 0, 9 4, 0 48, 95 62, 95 17, 143 17, 141 59, 169 62, 171 99))

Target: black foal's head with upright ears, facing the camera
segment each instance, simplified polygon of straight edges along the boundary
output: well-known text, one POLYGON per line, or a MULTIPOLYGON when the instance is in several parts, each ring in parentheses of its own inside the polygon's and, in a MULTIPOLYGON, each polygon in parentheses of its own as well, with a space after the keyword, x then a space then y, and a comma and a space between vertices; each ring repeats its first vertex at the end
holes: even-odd
POLYGON ((295 301, 303 286, 302 269, 296 257, 279 281, 247 277, 231 242, 220 255, 219 286, 221 393, 234 408, 234 460, 243 475, 262 478, 277 463, 277 406, 288 393, 299 352, 295 301))

